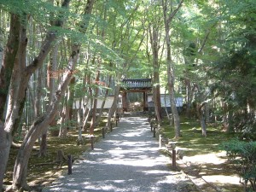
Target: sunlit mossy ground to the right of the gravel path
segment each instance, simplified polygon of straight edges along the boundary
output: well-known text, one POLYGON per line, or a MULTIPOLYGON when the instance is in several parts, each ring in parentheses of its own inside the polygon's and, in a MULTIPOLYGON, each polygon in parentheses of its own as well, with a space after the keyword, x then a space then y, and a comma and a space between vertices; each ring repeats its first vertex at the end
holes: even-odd
POLYGON ((175 143, 177 166, 201 191, 240 192, 243 185, 236 168, 231 166, 219 145, 234 134, 227 134, 216 124, 207 125, 207 137, 201 136, 200 122, 181 118, 182 137, 174 139, 174 129, 167 122, 163 135, 175 143))

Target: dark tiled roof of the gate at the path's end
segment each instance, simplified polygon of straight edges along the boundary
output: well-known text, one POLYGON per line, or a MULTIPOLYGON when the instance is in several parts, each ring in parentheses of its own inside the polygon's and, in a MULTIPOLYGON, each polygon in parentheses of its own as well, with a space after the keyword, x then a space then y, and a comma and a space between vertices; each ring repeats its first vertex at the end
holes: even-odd
POLYGON ((123 79, 122 89, 125 90, 147 90, 151 88, 151 79, 123 79))

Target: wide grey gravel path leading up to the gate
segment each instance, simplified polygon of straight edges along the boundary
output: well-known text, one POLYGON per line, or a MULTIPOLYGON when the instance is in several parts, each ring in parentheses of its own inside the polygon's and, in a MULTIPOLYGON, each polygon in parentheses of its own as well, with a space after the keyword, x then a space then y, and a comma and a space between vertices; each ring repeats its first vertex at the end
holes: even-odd
POLYGON ((182 176, 166 166, 170 162, 160 154, 147 119, 123 118, 73 165, 72 175, 60 177, 43 191, 178 191, 182 176))

